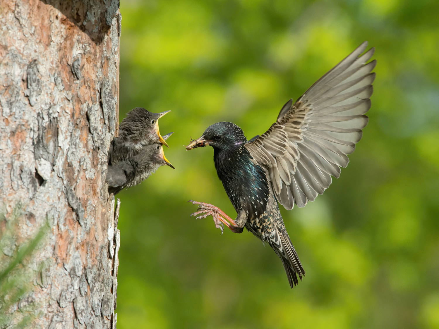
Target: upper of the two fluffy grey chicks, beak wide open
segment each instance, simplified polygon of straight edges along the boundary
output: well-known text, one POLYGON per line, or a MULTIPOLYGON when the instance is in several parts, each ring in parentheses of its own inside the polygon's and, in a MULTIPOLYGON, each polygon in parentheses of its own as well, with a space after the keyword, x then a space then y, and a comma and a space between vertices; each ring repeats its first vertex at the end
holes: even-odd
POLYGON ((110 144, 108 164, 133 157, 145 145, 162 143, 169 147, 158 130, 158 119, 168 112, 151 113, 143 107, 135 107, 128 112, 119 124, 119 136, 110 144))

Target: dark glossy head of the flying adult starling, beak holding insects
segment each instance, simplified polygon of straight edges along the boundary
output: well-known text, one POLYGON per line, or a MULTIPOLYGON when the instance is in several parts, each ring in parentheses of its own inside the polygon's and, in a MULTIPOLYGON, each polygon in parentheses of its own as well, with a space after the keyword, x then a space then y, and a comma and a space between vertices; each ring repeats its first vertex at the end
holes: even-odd
POLYGON ((192 140, 186 149, 210 145, 219 150, 233 150, 245 143, 247 138, 241 128, 232 122, 218 122, 208 127, 200 138, 192 140))

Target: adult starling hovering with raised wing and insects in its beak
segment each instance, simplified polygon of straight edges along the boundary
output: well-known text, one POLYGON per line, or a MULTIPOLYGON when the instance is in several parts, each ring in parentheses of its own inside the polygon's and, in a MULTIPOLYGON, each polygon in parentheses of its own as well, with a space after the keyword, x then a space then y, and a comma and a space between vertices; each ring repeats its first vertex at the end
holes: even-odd
POLYGON ((213 147, 216 172, 238 214, 233 220, 218 207, 191 201, 199 205, 192 215, 212 215, 221 230, 224 224, 241 233, 245 226, 267 242, 281 258, 291 288, 305 271, 277 203, 288 210, 304 207, 348 164, 346 154, 360 140, 371 107, 376 61, 367 63, 374 48, 361 55, 366 47, 362 43, 294 104, 289 100, 262 136, 247 141, 237 125, 219 122, 186 147, 213 147))

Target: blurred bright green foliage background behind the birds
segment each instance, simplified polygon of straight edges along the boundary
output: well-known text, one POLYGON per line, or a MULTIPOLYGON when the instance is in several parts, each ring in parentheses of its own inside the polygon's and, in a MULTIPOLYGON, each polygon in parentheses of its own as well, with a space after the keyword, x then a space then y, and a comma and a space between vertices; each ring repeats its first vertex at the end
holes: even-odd
POLYGON ((439 2, 122 0, 120 118, 172 110, 162 167, 122 200, 118 328, 439 328, 439 2), (306 270, 294 290, 249 232, 221 236, 187 200, 236 216, 212 148, 251 138, 364 40, 376 47, 369 125, 323 196, 281 210, 306 270))

